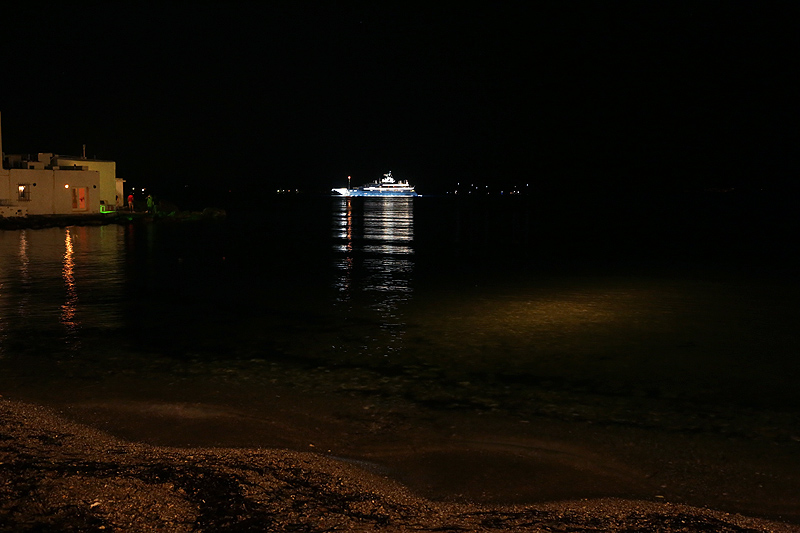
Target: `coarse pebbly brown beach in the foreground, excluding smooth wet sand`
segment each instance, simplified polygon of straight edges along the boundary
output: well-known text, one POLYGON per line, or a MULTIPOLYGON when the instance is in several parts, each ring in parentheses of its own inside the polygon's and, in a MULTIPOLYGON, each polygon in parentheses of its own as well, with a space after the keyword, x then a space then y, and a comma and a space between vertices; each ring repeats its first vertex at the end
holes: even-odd
POLYGON ((3 397, 0 419, 1 531, 800 531, 797 524, 643 499, 431 500, 363 461, 281 448, 156 446, 3 397))

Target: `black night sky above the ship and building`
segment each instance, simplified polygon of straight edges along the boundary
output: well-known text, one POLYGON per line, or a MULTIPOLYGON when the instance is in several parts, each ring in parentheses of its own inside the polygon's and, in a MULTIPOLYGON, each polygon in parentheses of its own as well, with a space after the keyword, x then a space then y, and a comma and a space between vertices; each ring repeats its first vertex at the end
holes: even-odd
POLYGON ((6 10, 3 149, 171 191, 796 188, 800 4, 428 4, 6 10))

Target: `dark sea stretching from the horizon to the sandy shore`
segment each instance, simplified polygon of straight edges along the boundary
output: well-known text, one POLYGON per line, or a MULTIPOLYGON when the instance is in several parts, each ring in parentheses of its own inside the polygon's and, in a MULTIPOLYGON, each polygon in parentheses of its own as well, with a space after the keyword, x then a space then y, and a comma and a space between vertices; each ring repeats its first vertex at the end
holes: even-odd
POLYGON ((224 221, 2 230, 0 394, 214 388, 257 411, 277 383, 792 445, 800 284, 782 205, 276 196, 224 221))

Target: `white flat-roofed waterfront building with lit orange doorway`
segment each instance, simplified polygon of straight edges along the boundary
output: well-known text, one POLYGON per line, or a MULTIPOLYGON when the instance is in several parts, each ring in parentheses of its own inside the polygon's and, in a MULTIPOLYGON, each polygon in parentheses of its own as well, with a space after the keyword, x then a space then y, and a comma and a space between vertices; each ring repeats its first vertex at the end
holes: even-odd
POLYGON ((114 161, 60 156, 5 155, 0 127, 0 216, 90 214, 122 205, 114 161))

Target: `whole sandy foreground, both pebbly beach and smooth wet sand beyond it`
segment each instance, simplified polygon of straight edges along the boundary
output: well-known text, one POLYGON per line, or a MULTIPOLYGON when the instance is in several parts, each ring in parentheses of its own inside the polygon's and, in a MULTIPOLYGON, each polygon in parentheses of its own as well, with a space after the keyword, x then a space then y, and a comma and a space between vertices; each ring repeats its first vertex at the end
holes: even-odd
POLYGON ((502 416, 429 413, 412 428, 379 405, 320 402, 275 397, 255 419, 2 399, 0 529, 800 531, 794 473, 777 471, 796 470, 791 456, 502 416), (761 483, 742 478, 751 466, 761 483))

